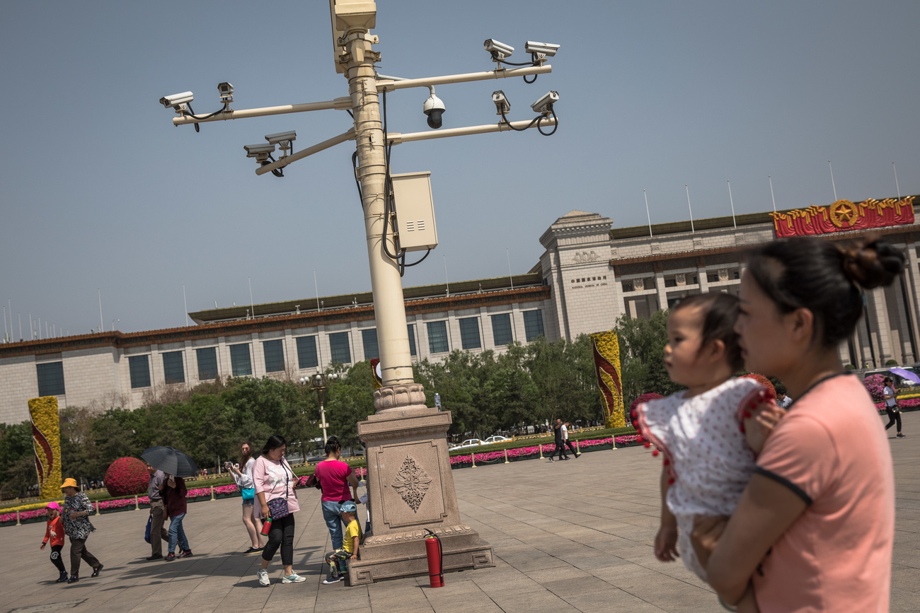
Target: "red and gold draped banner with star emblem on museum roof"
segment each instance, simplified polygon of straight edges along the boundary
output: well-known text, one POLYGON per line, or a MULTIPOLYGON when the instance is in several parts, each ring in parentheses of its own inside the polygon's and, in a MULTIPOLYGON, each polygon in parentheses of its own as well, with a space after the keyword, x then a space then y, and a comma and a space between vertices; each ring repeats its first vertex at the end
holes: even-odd
POLYGON ((868 230, 914 223, 914 197, 900 200, 868 199, 858 204, 837 200, 827 207, 809 207, 787 213, 770 213, 776 236, 806 236, 847 230, 868 230))

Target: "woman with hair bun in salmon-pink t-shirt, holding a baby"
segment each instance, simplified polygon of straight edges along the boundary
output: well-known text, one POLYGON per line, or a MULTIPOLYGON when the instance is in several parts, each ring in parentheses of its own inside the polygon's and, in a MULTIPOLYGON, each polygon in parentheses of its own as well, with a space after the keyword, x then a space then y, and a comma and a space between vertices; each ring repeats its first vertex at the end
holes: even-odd
MULTIPOLYGON (((878 411, 838 347, 863 291, 891 284, 903 255, 792 238, 754 250, 736 324, 745 367, 795 398, 766 439, 731 517, 697 517, 694 550, 739 611, 888 610, 894 538, 891 450, 878 411)), ((734 609, 732 609, 734 610, 734 609)))

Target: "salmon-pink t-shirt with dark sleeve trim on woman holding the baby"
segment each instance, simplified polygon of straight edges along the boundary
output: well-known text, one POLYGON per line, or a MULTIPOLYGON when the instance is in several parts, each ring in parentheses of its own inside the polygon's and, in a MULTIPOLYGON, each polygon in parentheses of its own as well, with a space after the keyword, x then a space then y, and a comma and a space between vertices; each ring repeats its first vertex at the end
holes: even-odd
POLYGON ((753 574, 762 613, 888 611, 894 473, 862 382, 838 375, 793 403, 755 472, 808 504, 753 574))

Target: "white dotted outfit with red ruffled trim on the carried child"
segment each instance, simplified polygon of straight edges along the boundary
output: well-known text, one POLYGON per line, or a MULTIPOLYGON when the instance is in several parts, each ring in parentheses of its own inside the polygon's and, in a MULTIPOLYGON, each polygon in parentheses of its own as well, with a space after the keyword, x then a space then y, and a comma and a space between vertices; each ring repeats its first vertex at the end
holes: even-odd
POLYGON ((738 504, 754 468, 742 414, 764 391, 753 379, 730 379, 692 398, 677 392, 639 404, 634 415, 639 434, 664 453, 670 474, 666 501, 677 518, 678 551, 686 567, 704 580, 706 571, 690 544, 693 518, 731 515, 738 504))

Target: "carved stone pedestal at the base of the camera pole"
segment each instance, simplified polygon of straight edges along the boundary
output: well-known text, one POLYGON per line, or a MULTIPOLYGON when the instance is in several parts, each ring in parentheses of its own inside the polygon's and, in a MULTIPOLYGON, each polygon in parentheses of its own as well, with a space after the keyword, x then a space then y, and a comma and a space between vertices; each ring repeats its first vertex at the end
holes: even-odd
POLYGON ((444 571, 494 566, 492 548, 463 524, 447 453, 451 414, 424 405, 418 383, 374 392, 377 412, 358 424, 367 454, 371 536, 349 565, 351 585, 427 574, 424 528, 443 547, 444 571))

